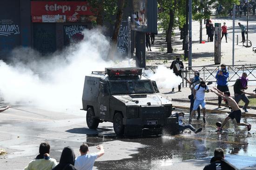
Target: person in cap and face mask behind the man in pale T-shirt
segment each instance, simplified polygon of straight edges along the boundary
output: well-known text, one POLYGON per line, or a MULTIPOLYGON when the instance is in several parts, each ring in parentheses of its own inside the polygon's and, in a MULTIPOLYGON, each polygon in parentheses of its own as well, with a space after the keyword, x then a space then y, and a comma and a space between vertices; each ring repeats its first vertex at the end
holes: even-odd
MULTIPOLYGON (((202 81, 203 79, 200 77, 200 73, 198 71, 195 71, 195 77, 194 78, 190 78, 188 80, 188 78, 184 77, 184 79, 186 80, 186 82, 189 83, 189 88, 191 90, 191 95, 189 97, 190 99, 190 109, 189 109, 189 114, 191 115, 191 112, 193 110, 193 107, 194 107, 194 102, 195 102, 195 99, 194 99, 194 94, 193 94, 193 89, 195 88, 196 85, 199 85, 200 84, 200 81, 202 81)), ((198 106, 197 108, 197 113, 198 113, 198 116, 197 116, 197 120, 200 119, 200 106, 198 106)))

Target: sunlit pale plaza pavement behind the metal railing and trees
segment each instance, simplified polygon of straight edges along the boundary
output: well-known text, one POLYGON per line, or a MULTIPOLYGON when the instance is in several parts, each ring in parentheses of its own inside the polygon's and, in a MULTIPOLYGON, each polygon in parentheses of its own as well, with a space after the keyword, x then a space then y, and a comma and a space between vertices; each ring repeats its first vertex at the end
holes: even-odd
MULTIPOLYGON (((226 65, 232 65, 232 20, 227 18, 214 18, 211 19, 214 23, 226 22, 228 26, 228 43, 222 39, 222 61, 226 65)), ((249 40, 252 42, 252 47, 246 48, 240 41, 241 30, 238 22, 246 25, 246 18, 236 18, 235 20, 235 65, 249 65, 256 64, 256 53, 252 51, 252 47, 256 46, 256 16, 249 17, 249 40), (236 45, 236 36, 238 35, 238 45, 236 45)), ((192 66, 206 66, 214 65, 214 42, 207 42, 207 35, 205 25, 202 29, 202 40, 206 41, 205 44, 199 44, 199 27, 197 21, 192 23, 192 66)), ((166 42, 164 34, 158 31, 155 35, 155 44, 151 46, 152 52, 146 52, 147 66, 165 65, 169 67, 176 55, 184 54, 182 50, 182 39, 180 39, 180 31, 176 29, 175 36, 172 38, 173 53, 167 54, 166 42), (165 61, 166 60, 166 61, 165 61)), ((224 37, 225 38, 225 37, 224 37)), ((188 66, 188 61, 184 62, 184 66, 188 66)))

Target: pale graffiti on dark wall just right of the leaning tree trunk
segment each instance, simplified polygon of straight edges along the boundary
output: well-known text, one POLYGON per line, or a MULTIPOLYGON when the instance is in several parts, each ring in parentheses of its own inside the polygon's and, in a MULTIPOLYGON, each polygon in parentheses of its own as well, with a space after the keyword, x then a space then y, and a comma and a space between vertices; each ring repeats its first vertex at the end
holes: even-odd
POLYGON ((127 21, 122 21, 117 38, 117 49, 121 55, 128 54, 128 30, 127 21))

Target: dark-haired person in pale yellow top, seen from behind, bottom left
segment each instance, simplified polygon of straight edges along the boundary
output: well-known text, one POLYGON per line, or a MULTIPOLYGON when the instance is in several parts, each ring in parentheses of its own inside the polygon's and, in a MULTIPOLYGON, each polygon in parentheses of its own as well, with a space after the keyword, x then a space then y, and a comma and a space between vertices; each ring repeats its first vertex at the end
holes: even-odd
POLYGON ((57 162, 50 155, 50 145, 48 143, 41 143, 39 146, 39 155, 28 163, 24 170, 52 170, 57 162))

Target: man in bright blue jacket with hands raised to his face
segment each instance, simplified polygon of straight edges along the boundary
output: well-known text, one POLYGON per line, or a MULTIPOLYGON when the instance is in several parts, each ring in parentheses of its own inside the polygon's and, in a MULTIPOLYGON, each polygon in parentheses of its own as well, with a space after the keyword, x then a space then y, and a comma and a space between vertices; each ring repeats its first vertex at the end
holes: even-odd
MULTIPOLYGON (((221 92, 227 92, 229 91, 228 87, 228 78, 229 78, 229 72, 226 68, 225 64, 221 65, 221 70, 218 70, 215 78, 217 79, 217 89, 221 92)), ((225 107, 229 107, 229 104, 227 101, 225 107)), ((218 104, 219 108, 221 108, 222 98, 218 97, 218 104)))

